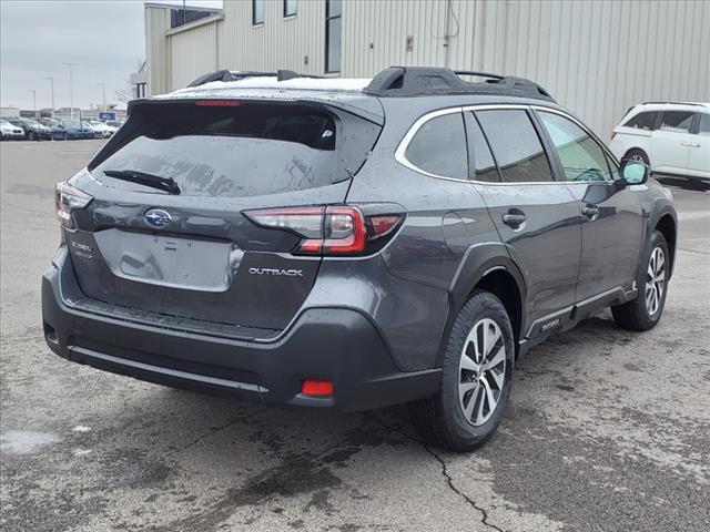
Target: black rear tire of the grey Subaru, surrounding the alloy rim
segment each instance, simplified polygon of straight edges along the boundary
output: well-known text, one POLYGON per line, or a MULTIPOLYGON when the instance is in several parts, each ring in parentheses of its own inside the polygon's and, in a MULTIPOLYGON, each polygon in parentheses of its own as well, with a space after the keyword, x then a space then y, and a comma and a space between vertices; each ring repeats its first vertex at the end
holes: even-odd
MULTIPOLYGON (((493 329, 487 329, 493 330, 493 329)), ((480 337, 478 338, 480 342, 480 337)), ((473 345, 473 344, 470 344, 473 345)), ((469 345, 466 345, 467 349, 469 345)), ((470 352, 470 351, 467 351, 470 352)), ((484 354, 485 358, 485 354, 484 354)), ((413 402, 409 405, 409 412, 414 426, 417 428, 422 437, 430 443, 438 444, 452 451, 468 452, 481 447, 496 431, 498 423, 503 418, 508 406, 510 397, 510 386, 513 382, 513 364, 515 359, 515 338, 510 319, 500 300, 488 291, 476 290, 466 301, 462 310, 456 317, 454 327, 448 338, 446 355, 442 367, 442 382, 439 391, 427 399, 413 402), (484 321, 485 320, 485 321, 484 321), (490 321, 495 323, 500 331, 500 338, 496 340, 490 348, 490 357, 505 347, 505 366, 496 369, 484 370, 481 372, 468 371, 462 366, 464 358, 464 347, 467 344, 469 332, 477 327, 490 326, 490 321), (480 402, 474 403, 473 417, 477 415, 476 405, 481 405, 487 399, 478 396, 479 390, 484 396, 486 388, 483 386, 484 380, 491 389, 496 383, 496 379, 489 371, 496 371, 498 378, 503 377, 500 387, 496 387, 495 392, 498 393, 498 401, 493 409, 488 409, 488 418, 485 422, 473 424, 465 417, 464 401, 475 401, 479 398, 480 402), (470 374, 470 380, 468 375, 470 374), (466 380, 466 382, 464 382, 466 380), (490 383, 488 383, 490 381, 490 383), (459 400, 459 385, 477 387, 467 391, 463 399, 459 400), (476 397, 474 397, 476 395, 476 397)), ((491 391, 491 393, 494 393, 491 391)), ((485 405, 485 403, 484 403, 485 405)), ((471 406, 468 402, 467 406, 471 406)), ((481 408, 481 410, 484 410, 481 408)), ((473 418, 471 418, 473 419, 473 418)), ((483 421, 485 418, 480 418, 483 421)))

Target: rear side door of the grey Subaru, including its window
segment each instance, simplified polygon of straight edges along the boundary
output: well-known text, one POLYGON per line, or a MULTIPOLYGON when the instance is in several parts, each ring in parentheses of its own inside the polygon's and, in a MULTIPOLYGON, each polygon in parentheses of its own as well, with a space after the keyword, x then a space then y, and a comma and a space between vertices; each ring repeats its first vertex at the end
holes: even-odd
POLYGON ((481 137, 480 127, 499 168, 499 177, 488 173, 486 181, 476 177, 475 186, 524 269, 528 321, 538 321, 535 336, 548 323, 555 328, 560 321, 551 315, 575 303, 580 227, 579 207, 567 186, 555 181, 528 113, 524 106, 477 110, 469 137, 481 137))

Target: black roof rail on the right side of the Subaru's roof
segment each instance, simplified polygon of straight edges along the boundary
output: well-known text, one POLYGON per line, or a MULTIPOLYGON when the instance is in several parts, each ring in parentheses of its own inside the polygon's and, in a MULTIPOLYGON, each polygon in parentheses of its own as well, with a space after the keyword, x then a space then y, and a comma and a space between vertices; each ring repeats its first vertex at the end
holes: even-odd
POLYGON ((555 101, 549 92, 525 78, 488 72, 453 71, 437 66, 389 66, 363 90, 375 96, 420 96, 433 94, 510 94, 555 101), (487 78, 464 81, 460 75, 487 78))

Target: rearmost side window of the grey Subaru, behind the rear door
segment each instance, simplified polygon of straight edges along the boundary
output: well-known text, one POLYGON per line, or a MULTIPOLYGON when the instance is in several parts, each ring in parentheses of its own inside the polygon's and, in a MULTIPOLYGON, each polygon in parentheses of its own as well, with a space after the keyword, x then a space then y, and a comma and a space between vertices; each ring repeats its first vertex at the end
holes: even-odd
POLYGON ((409 142, 405 156, 430 174, 467 178, 468 154, 462 113, 444 114, 426 122, 409 142))

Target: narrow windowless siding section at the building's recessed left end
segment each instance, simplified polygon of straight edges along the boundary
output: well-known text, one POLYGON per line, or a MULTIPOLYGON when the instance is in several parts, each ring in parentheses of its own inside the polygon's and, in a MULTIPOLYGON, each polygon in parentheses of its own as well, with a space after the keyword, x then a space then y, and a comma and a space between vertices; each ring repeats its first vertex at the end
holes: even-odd
POLYGON ((200 25, 169 37, 171 86, 179 89, 217 70, 217 24, 200 25))

